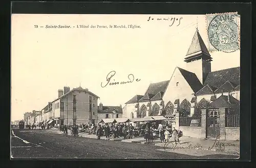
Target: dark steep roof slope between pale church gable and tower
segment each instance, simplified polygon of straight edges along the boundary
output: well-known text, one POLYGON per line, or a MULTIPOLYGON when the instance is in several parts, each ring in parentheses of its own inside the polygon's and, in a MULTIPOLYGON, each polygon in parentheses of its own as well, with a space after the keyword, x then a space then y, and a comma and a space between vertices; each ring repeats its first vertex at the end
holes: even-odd
POLYGON ((182 76, 185 78, 185 80, 187 81, 188 85, 190 86, 190 88, 196 93, 197 91, 199 91, 202 88, 202 84, 199 81, 199 79, 197 78, 197 75, 195 73, 189 72, 187 70, 184 70, 182 68, 179 68, 182 76))

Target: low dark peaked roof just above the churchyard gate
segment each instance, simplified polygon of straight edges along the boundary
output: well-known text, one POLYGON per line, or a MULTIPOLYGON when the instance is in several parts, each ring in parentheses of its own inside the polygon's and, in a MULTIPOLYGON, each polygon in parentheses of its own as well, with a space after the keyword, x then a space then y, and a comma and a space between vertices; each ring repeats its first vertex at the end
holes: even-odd
POLYGON ((231 107, 231 105, 239 105, 240 101, 230 95, 229 102, 228 96, 221 95, 216 100, 212 101, 209 105, 211 108, 231 107))

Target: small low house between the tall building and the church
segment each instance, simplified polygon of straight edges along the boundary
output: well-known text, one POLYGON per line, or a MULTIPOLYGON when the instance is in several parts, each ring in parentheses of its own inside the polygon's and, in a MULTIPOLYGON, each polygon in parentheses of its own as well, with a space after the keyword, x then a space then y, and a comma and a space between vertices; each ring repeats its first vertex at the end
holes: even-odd
POLYGON ((99 103, 98 106, 98 122, 102 119, 122 118, 122 106, 103 106, 99 103))

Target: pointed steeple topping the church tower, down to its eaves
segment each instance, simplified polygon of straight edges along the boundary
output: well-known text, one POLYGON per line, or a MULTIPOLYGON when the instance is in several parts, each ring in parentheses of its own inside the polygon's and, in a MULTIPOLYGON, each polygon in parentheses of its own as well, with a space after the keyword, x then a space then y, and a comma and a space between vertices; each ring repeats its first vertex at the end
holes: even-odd
POLYGON ((203 59, 208 62, 212 61, 210 53, 205 46, 203 39, 199 34, 199 31, 198 29, 196 29, 196 33, 191 41, 184 61, 191 62, 198 59, 203 59))

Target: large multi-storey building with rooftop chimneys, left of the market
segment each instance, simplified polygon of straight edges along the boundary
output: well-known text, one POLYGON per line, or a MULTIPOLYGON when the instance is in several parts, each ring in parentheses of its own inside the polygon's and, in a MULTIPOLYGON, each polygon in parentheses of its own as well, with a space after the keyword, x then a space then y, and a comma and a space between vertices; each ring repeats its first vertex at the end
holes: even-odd
POLYGON ((58 98, 42 109, 42 120, 53 125, 97 123, 98 96, 81 87, 58 90, 58 98))

